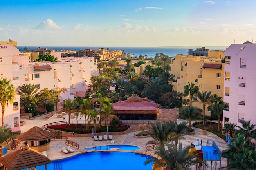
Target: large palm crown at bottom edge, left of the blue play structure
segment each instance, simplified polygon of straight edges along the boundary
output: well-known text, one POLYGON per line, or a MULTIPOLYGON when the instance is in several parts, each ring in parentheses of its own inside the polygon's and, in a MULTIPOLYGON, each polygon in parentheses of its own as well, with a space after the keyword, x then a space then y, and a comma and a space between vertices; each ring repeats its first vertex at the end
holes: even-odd
POLYGON ((162 169, 162 167, 166 167, 168 170, 190 170, 191 166, 196 163, 202 164, 202 160, 197 158, 196 152, 189 152, 192 146, 187 146, 182 150, 176 149, 173 144, 166 144, 166 146, 167 149, 159 147, 155 151, 155 154, 161 157, 160 159, 150 157, 144 164, 153 163, 152 170, 162 169))

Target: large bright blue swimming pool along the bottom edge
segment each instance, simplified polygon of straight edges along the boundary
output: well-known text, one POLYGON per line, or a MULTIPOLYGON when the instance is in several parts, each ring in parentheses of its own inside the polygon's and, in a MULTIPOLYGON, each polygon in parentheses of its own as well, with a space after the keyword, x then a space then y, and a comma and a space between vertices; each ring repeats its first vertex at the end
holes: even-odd
MULTIPOLYGON (((128 152, 88 152, 52 161, 47 170, 152 170, 153 164, 143 164, 148 157, 151 156, 128 152)), ((44 170, 45 166, 36 168, 44 170)))

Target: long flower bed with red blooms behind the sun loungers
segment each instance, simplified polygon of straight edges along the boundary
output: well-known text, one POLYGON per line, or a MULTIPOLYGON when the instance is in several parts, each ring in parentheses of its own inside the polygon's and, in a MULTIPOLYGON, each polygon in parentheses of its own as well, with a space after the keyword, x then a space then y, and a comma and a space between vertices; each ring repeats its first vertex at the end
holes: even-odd
MULTIPOLYGON (((87 134, 92 133, 92 128, 94 126, 90 126, 89 128, 84 128, 84 125, 81 124, 60 124, 60 125, 51 125, 47 126, 47 128, 54 129, 54 130, 61 130, 65 132, 75 132, 77 134, 87 134)), ((108 126, 108 132, 122 132, 126 131, 128 128, 130 128, 130 125, 119 125, 117 128, 113 128, 112 126, 108 126)), ((106 132, 107 127, 106 126, 99 126, 96 127, 96 132, 106 132)))

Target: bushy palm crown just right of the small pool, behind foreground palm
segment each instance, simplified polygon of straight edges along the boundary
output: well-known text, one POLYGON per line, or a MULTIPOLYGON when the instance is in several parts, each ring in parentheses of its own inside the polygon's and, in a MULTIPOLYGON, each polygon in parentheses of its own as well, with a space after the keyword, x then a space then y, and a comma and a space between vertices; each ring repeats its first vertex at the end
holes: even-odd
POLYGON ((150 135, 154 140, 148 141, 146 145, 159 144, 159 146, 164 147, 173 140, 171 137, 176 135, 174 132, 175 126, 170 126, 167 122, 160 123, 157 121, 156 124, 150 123, 147 128, 149 131, 144 131, 144 133, 150 135))

